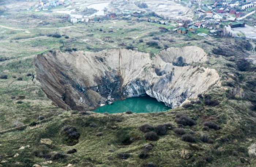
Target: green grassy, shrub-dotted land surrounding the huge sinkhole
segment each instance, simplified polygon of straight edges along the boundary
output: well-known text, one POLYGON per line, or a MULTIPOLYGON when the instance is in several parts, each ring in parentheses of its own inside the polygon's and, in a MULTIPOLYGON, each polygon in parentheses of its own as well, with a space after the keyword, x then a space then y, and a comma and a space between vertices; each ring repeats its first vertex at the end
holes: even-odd
POLYGON ((0 27, 0 166, 255 166, 248 155, 256 137, 255 64, 245 59, 253 53, 252 41, 189 37, 167 31, 169 26, 136 20, 81 26, 55 17, 49 24, 37 25, 30 22, 35 16, 24 15, 30 18, 27 24, 0 21, 5 26, 0 27), (150 47, 150 41, 157 45, 150 47), (33 55, 52 49, 130 48, 158 53, 185 45, 197 45, 208 53, 209 61, 203 65, 218 71, 222 85, 193 99, 193 104, 152 114, 57 108, 41 90, 32 64, 33 55), (184 122, 178 121, 180 113, 187 116, 182 117, 184 122), (158 135, 139 130, 143 124, 158 135), (189 136, 178 135, 183 131, 189 136), (77 152, 67 154, 73 148, 77 152))

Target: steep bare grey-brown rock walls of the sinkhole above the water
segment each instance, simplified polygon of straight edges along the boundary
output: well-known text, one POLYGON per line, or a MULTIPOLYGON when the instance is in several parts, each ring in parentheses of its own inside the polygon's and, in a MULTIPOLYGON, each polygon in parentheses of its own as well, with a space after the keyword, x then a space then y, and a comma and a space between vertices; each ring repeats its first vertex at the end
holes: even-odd
POLYGON ((219 80, 202 48, 168 48, 152 57, 127 49, 52 51, 34 59, 37 79, 53 103, 92 110, 108 100, 149 95, 170 107, 195 98, 219 80))

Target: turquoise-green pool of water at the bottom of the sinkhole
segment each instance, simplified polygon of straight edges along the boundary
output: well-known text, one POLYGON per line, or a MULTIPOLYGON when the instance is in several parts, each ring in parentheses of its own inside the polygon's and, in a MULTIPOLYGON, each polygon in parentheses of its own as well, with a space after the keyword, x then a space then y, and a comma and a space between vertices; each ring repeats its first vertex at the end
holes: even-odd
POLYGON ((156 99, 149 96, 127 98, 118 100, 112 104, 98 107, 94 112, 108 112, 110 114, 132 111, 133 113, 148 113, 167 111, 170 107, 165 106, 163 102, 158 102, 156 99))

